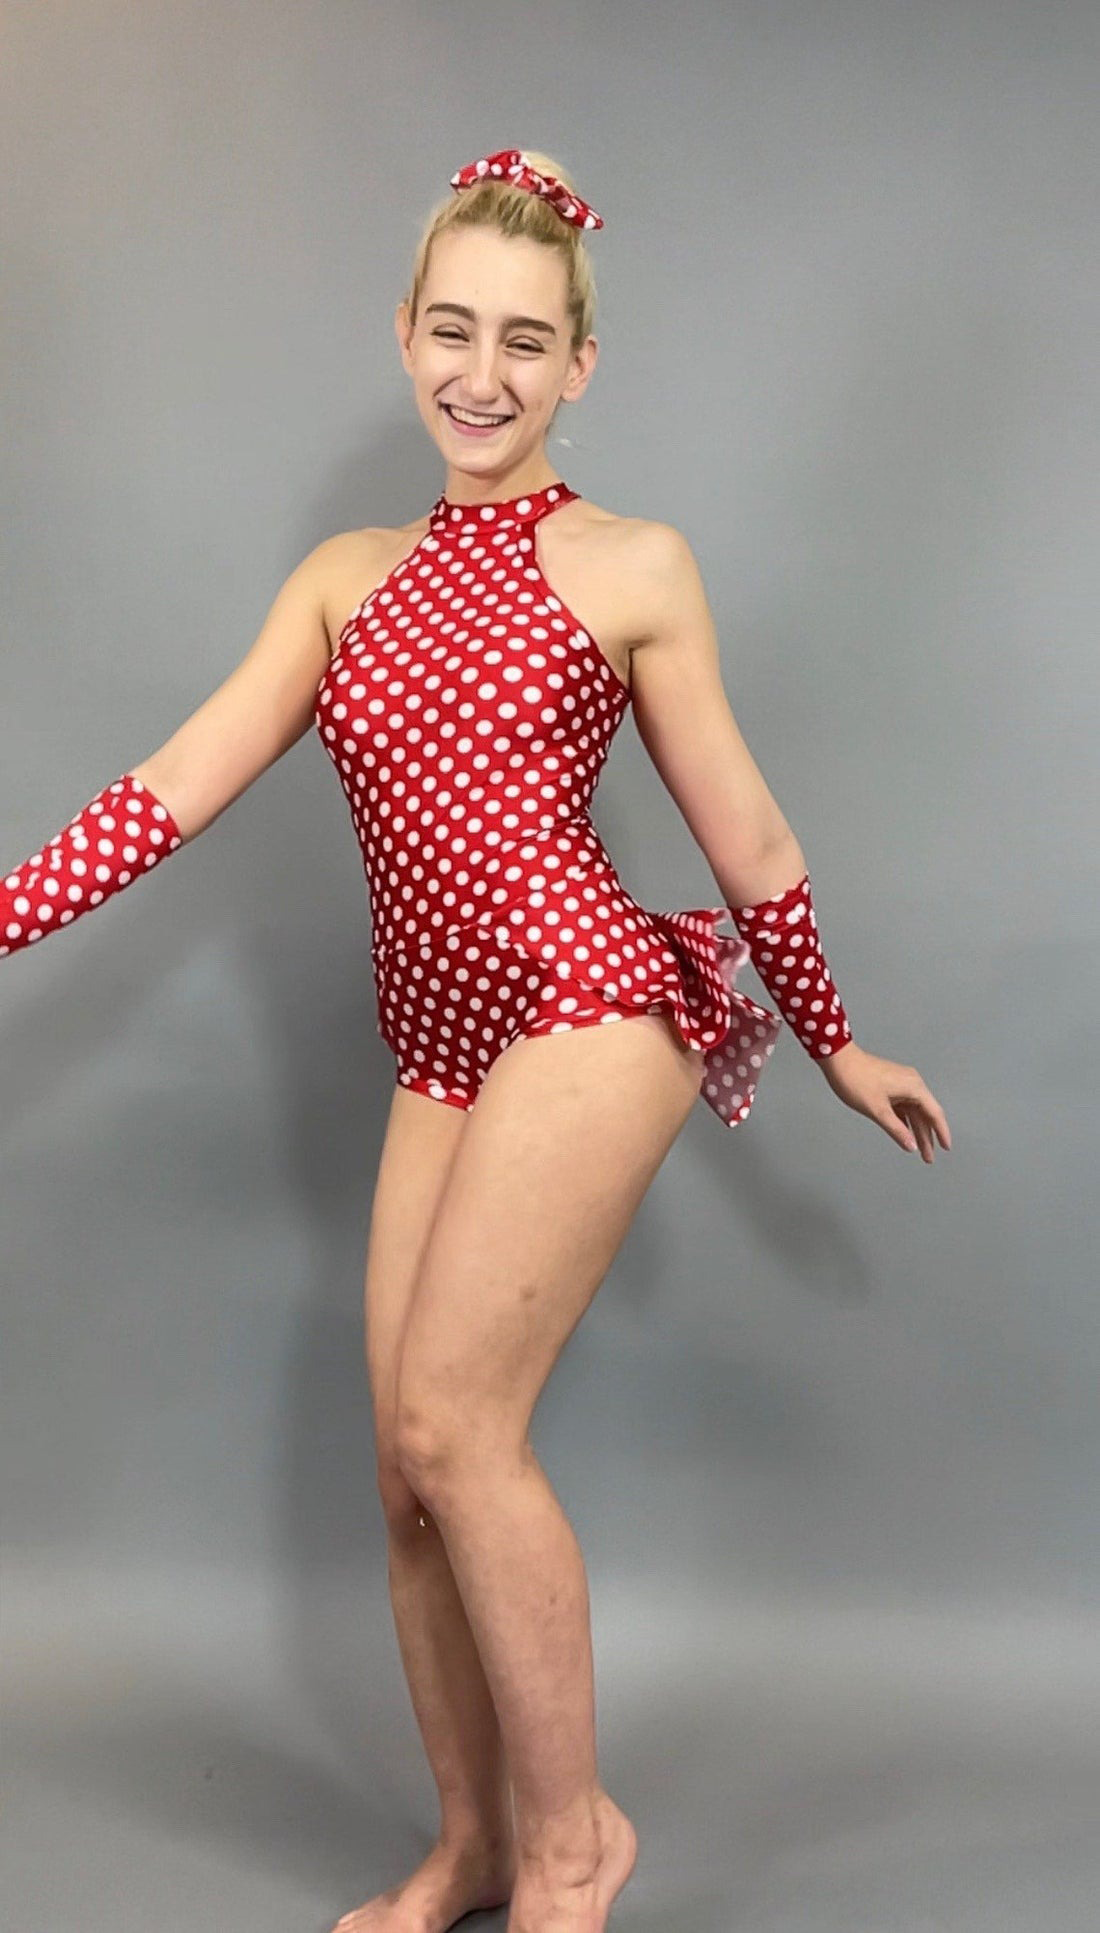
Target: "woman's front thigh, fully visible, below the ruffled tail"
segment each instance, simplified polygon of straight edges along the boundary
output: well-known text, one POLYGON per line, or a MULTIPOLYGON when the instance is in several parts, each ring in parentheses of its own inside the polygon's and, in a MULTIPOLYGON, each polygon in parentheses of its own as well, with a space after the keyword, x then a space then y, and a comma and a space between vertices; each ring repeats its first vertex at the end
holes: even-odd
POLYGON ((702 1079, 671 1017, 514 1040, 489 1069, 431 1224, 398 1365, 402 1457, 522 1444, 702 1079))

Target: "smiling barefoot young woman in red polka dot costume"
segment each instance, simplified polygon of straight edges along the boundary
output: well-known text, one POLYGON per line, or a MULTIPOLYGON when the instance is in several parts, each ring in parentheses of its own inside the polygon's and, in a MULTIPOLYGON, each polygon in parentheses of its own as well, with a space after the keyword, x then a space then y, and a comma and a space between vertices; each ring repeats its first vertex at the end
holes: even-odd
POLYGON ((420 1871, 338 1927, 443 1933, 510 1898, 510 1933, 597 1933, 636 1838, 597 1778, 586 1570, 528 1427, 692 1102, 727 1127, 750 1111, 781 1021, 735 986, 744 961, 839 1100, 928 1164, 951 1142, 916 1069, 851 1036, 688 543, 547 460, 595 367, 601 218, 520 149, 450 189, 396 311, 441 497, 305 557, 226 682, 4 880, 0 955, 143 878, 317 729, 396 1067, 367 1369, 441 1798, 420 1871), (626 706, 723 907, 650 912, 617 878, 590 804, 626 706), (727 912, 740 938, 717 934, 727 912))

